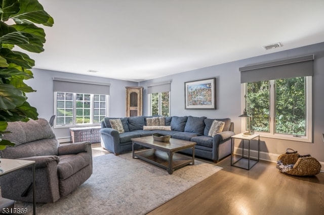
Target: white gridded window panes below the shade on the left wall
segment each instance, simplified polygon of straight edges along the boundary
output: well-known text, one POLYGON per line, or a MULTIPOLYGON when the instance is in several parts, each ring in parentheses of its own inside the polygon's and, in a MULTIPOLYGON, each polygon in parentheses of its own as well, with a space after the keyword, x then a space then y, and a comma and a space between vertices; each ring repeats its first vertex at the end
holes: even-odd
POLYGON ((55 92, 56 126, 99 124, 107 116, 108 95, 55 92))

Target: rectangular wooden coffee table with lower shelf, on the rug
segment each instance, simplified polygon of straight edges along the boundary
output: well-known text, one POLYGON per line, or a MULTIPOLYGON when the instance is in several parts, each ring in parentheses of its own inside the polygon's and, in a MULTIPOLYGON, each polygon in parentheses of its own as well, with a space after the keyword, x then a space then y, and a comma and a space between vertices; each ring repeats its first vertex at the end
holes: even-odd
POLYGON ((146 162, 166 169, 171 175, 173 171, 188 164, 194 165, 195 142, 170 138, 169 142, 153 140, 152 136, 132 138, 133 158, 137 157, 146 162), (135 145, 141 145, 148 149, 135 151, 135 145), (192 156, 176 153, 191 148, 192 156))

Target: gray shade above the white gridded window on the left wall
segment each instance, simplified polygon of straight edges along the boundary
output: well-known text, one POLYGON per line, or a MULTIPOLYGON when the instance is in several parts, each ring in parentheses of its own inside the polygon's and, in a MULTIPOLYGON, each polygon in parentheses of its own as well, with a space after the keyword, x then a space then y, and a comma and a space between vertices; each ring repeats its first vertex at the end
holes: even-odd
POLYGON ((110 84, 81 81, 65 78, 53 78, 54 92, 72 92, 109 95, 110 84))

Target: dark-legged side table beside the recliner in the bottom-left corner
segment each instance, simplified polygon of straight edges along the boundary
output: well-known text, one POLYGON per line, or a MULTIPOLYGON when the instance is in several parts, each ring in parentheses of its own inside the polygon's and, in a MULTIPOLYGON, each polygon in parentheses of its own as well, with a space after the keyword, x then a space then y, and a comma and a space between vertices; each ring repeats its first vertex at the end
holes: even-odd
MULTIPOLYGON (((32 202, 33 202, 33 214, 36 214, 36 202, 35 202, 35 162, 33 160, 20 160, 20 159, 6 159, 0 158, 0 177, 4 176, 8 173, 14 172, 16 170, 20 170, 29 166, 32 166, 32 202)), ((5 185, 2 185, 5 186, 5 185)), ((12 209, 8 209, 3 213, 3 208, 1 208, 0 213, 3 214, 15 214, 16 211, 11 211, 12 209)), ((21 213, 20 213, 21 214, 21 213)))

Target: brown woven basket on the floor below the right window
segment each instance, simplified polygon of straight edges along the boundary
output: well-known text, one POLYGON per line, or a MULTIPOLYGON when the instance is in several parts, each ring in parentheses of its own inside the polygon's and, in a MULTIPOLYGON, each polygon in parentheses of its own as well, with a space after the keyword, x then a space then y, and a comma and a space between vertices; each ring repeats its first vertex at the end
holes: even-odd
POLYGON ((297 151, 288 148, 286 153, 279 155, 277 169, 281 173, 293 176, 314 176, 320 172, 321 165, 309 154, 300 155, 297 151), (289 152, 289 150, 292 150, 292 152, 289 152))

